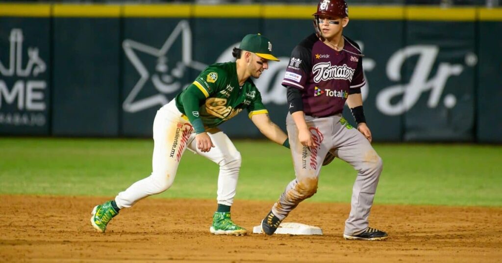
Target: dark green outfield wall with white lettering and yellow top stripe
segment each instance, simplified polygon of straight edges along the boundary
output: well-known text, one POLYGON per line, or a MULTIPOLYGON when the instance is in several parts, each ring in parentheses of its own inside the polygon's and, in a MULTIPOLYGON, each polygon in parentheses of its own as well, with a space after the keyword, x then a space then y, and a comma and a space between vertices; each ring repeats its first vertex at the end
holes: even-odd
MULTIPOLYGON (((285 128, 280 85, 312 6, 0 4, 0 134, 148 137, 157 109, 248 33, 280 62, 255 81, 285 128)), ((376 141, 502 142, 502 9, 351 7, 376 141)), ((352 120, 350 112, 345 112, 352 120)), ((260 138, 237 116, 230 137, 260 138)))

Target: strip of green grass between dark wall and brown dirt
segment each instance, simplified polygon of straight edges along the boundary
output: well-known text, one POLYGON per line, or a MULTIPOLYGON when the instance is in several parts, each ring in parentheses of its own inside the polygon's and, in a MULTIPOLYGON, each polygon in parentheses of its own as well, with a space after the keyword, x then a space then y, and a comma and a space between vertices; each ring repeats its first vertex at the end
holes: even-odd
MULTIPOLYGON (((287 149, 236 140, 242 155, 237 199, 275 201, 294 178, 287 149)), ((384 160, 376 203, 502 205, 502 146, 375 144, 384 160)), ((0 194, 114 196, 152 169, 146 139, 0 138, 0 194)), ((216 198, 218 166, 186 152, 173 186, 157 197, 216 198)), ((349 202, 356 172, 323 167, 309 201, 349 202)))

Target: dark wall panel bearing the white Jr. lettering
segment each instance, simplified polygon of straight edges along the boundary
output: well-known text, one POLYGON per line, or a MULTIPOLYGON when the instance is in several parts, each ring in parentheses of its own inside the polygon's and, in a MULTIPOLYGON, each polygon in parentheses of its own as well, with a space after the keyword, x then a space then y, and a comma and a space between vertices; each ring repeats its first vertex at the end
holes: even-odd
POLYGON ((406 32, 394 72, 405 83, 389 91, 403 99, 388 114, 404 114, 405 141, 473 141, 475 24, 409 21, 406 32))

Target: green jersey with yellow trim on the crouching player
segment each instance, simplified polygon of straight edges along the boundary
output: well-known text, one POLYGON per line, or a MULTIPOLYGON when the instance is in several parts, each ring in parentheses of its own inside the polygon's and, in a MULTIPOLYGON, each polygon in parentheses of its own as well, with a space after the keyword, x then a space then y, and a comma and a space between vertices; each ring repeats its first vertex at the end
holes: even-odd
POLYGON ((200 117, 207 128, 213 128, 235 117, 243 109, 249 118, 256 114, 268 113, 262 103, 260 91, 252 80, 247 79, 239 86, 235 62, 217 63, 207 67, 195 79, 193 85, 178 94, 176 107, 181 113, 200 117), (198 89, 206 97, 198 112, 186 113, 182 97, 189 89, 198 89))

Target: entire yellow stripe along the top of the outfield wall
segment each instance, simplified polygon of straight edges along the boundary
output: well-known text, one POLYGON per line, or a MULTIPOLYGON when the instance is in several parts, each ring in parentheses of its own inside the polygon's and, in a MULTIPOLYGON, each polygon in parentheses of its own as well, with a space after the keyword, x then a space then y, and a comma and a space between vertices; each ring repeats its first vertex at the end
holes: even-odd
MULTIPOLYGON (((1 0, 0 0, 1 1, 1 0)), ((39 5, 0 4, 0 17, 176 17, 312 19, 315 5, 39 5)), ((354 6, 354 20, 502 21, 502 8, 441 8, 433 6, 354 6), (477 15, 477 16, 476 16, 477 15)))

